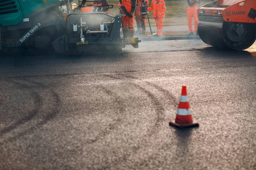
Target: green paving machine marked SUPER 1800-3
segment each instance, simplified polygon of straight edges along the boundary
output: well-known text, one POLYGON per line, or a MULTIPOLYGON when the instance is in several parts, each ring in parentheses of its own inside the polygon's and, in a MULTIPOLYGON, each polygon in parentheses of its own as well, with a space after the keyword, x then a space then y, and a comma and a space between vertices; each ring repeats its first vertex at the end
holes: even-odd
POLYGON ((138 48, 138 38, 120 37, 120 14, 80 12, 71 8, 72 1, 0 0, 0 51, 54 50, 69 55, 120 52, 126 45, 138 48))

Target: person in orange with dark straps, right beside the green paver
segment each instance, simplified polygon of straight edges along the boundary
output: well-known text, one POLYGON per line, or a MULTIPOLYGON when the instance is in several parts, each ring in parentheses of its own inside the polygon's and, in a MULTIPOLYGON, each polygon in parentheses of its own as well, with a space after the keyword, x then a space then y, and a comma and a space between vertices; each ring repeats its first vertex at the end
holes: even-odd
POLYGON ((122 32, 124 38, 134 36, 134 11, 136 8, 136 0, 119 0, 118 4, 122 17, 122 32))

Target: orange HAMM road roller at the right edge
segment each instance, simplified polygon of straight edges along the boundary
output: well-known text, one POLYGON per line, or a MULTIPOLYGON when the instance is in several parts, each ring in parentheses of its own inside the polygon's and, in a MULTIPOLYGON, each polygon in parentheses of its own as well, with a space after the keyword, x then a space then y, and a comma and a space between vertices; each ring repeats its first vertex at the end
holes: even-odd
POLYGON ((256 0, 214 0, 198 8, 198 20, 208 45, 244 50, 256 40, 256 0))

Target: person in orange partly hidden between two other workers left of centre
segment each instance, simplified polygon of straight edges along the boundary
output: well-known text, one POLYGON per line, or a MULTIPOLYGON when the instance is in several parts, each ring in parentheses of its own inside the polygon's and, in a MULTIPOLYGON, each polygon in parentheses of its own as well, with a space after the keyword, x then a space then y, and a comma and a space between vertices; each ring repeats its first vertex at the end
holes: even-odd
POLYGON ((148 12, 148 4, 148 0, 136 0, 135 20, 137 23, 137 31, 135 34, 145 34, 146 32, 145 18, 148 12))

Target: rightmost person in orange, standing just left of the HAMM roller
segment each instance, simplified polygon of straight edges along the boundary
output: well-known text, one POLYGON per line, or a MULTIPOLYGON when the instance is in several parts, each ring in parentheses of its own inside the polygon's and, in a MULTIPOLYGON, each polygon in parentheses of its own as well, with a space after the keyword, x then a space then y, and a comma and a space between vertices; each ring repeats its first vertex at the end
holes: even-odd
POLYGON ((188 16, 188 25, 189 25, 189 35, 193 35, 193 26, 192 26, 192 17, 195 21, 195 32, 198 35, 198 15, 197 15, 197 5, 196 0, 187 0, 188 2, 188 9, 187 9, 187 16, 188 16))

